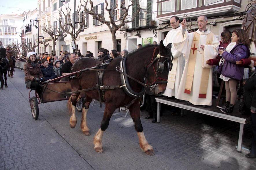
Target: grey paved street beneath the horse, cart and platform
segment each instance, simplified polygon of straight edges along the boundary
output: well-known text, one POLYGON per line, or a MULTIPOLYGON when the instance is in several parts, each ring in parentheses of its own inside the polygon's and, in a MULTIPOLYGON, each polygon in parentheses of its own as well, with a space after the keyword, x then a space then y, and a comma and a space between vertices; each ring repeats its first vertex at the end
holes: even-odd
MULTIPOLYGON (((256 159, 236 151, 239 123, 189 112, 172 116, 166 108, 161 123, 141 121, 144 134, 155 150, 148 156, 140 149, 131 117, 125 111, 113 114, 103 135, 104 153, 93 148, 93 137, 103 117, 99 103, 91 103, 87 124, 91 135, 77 126, 71 129, 67 101, 39 104, 34 120, 29 107, 24 72, 15 68, 8 88, 0 91, 0 169, 256 169, 256 159)), ((251 143, 250 123, 244 131, 243 146, 251 143)))

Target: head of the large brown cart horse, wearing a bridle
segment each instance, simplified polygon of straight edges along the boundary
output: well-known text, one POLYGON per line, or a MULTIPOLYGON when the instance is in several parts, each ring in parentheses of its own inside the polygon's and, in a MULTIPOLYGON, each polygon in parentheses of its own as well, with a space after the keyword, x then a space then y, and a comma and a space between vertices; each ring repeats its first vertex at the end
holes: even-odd
POLYGON ((160 96, 164 93, 167 85, 168 73, 172 69, 172 44, 166 47, 160 41, 159 47, 155 48, 151 63, 146 72, 146 79, 149 82, 151 93, 160 96), (157 50, 158 48, 158 50, 157 50))

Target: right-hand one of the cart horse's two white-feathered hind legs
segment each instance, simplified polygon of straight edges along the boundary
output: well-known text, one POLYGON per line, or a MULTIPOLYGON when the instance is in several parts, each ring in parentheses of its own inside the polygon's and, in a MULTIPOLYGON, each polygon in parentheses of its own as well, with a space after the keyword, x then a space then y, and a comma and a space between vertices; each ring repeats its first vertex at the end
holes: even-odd
POLYGON ((86 97, 84 103, 83 103, 83 110, 82 110, 82 119, 81 119, 81 130, 83 131, 84 135, 89 136, 90 134, 90 129, 87 127, 86 123, 86 116, 87 112, 89 110, 89 105, 92 102, 92 99, 89 97, 86 97))

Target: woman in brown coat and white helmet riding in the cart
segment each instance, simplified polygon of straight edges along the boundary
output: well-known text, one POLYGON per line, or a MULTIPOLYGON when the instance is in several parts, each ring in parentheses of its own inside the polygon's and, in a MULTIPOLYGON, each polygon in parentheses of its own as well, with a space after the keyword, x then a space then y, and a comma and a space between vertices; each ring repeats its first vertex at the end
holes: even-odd
POLYGON ((39 98, 41 98, 40 79, 43 78, 43 74, 41 72, 40 65, 37 64, 36 53, 31 51, 27 54, 27 57, 27 63, 24 64, 25 83, 27 89, 35 88, 39 98))

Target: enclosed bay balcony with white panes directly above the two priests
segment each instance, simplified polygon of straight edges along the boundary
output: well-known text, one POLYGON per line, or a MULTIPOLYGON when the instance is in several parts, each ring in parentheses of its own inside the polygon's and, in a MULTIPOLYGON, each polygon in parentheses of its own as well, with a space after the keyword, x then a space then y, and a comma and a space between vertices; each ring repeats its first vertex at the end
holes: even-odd
POLYGON ((190 17, 200 15, 220 16, 238 12, 241 9, 242 0, 158 0, 157 19, 170 20, 170 16, 184 18, 184 14, 190 17))

